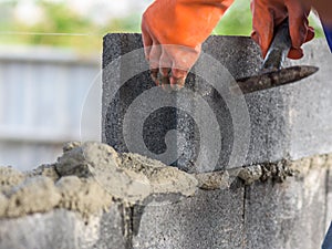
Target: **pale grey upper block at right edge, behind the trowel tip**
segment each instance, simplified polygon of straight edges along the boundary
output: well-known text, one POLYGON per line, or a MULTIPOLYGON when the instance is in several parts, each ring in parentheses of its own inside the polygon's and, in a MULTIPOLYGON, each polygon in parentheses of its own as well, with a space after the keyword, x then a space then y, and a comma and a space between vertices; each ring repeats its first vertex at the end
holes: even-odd
POLYGON ((332 55, 323 39, 304 45, 305 56, 290 64, 319 66, 319 72, 298 84, 283 87, 288 98, 288 118, 292 159, 328 154, 332 151, 332 55))

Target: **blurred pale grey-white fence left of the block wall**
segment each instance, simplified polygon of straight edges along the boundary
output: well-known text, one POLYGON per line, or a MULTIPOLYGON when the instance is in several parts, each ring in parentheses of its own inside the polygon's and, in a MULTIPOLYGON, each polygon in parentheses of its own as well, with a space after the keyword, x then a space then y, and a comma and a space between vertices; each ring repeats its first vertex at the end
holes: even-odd
MULTIPOLYGON (((64 50, 0 49, 0 165, 24 170, 52 163, 65 142, 79 141, 82 108, 98 73, 98 59, 64 50)), ((97 95, 89 103, 90 139, 100 139, 97 95)))

